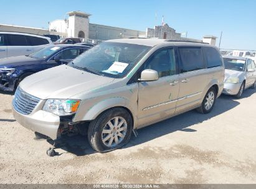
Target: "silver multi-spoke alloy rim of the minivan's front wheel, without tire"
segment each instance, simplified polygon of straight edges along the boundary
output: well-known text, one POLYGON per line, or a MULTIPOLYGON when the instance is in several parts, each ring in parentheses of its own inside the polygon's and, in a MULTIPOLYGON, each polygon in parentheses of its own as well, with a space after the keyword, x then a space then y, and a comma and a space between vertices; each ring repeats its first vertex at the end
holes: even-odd
POLYGON ((120 144, 126 136, 127 122, 125 118, 116 116, 111 118, 103 127, 102 142, 108 147, 120 144))

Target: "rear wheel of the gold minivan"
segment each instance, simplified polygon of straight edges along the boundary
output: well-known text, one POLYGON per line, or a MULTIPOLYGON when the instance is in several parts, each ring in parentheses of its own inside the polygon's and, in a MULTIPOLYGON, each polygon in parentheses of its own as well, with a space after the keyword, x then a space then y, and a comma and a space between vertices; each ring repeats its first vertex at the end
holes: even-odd
POLYGON ((212 87, 207 91, 206 96, 204 96, 204 100, 197 111, 201 114, 207 114, 212 111, 216 101, 216 90, 212 87))

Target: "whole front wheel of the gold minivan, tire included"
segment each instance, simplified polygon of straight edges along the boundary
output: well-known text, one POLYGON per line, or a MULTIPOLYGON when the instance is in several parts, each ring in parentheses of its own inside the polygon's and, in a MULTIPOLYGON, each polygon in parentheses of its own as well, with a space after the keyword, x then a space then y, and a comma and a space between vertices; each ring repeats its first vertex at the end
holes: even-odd
POLYGON ((118 149, 130 141, 133 121, 123 108, 112 108, 90 123, 88 141, 98 152, 118 149))

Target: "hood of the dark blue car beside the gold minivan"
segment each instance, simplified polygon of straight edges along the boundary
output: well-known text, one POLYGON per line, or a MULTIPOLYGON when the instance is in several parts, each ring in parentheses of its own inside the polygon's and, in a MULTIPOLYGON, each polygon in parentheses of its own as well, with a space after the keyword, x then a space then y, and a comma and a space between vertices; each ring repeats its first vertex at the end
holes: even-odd
POLYGON ((24 65, 33 65, 39 62, 42 62, 42 60, 27 56, 8 57, 0 59, 0 68, 16 68, 24 65))

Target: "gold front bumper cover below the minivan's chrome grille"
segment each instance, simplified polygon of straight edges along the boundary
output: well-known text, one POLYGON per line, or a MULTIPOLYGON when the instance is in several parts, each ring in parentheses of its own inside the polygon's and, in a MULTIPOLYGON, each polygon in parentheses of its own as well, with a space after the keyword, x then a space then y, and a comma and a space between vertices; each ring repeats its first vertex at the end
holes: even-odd
POLYGON ((12 112, 16 121, 27 129, 44 134, 53 140, 59 138, 59 116, 42 110, 29 115, 24 115, 18 113, 13 106, 12 112))

